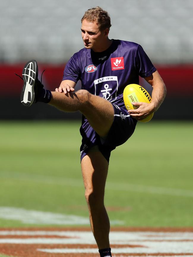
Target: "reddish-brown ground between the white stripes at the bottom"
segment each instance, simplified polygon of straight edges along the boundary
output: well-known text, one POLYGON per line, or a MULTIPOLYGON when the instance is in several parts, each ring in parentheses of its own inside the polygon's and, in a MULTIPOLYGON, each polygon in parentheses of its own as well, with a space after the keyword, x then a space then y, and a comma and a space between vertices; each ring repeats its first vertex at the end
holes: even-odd
MULTIPOLYGON (((91 232, 91 228, 90 227, 69 227, 69 228, 45 228, 45 227, 41 227, 41 228, 0 228, 0 231, 29 231, 29 232, 33 232, 33 231, 87 231, 87 232, 91 232)), ((193 232, 193 228, 132 228, 132 227, 114 227, 111 229, 111 231, 115 231, 115 232, 193 232)), ((159 235, 157 235, 159 237, 159 235)), ((67 237, 67 236, 58 236, 58 235, 0 235, 0 239, 26 239, 26 238, 71 238, 71 237, 67 237)), ((75 238, 75 237, 73 237, 75 238)), ((151 240, 151 236, 149 236, 149 240, 148 239, 144 239, 144 240, 140 240, 140 242, 164 242, 165 240, 162 239, 152 239, 151 240)), ((193 242, 192 239, 181 239, 181 240, 175 240, 175 238, 173 238, 173 240, 167 240, 168 242, 193 242)), ((132 244, 132 240, 131 240, 131 244, 121 244, 121 245, 117 245, 117 244, 111 244, 112 249, 114 248, 123 248, 123 247, 127 247, 127 248, 144 248, 143 245, 133 245, 132 244)), ((193 251, 192 251, 193 252, 193 251)), ((97 245, 93 244, 93 245, 88 245, 88 244, 0 244, 0 254, 6 254, 6 255, 12 255, 12 256, 20 256, 20 257, 99 257, 99 253, 98 253, 98 248, 97 245), (96 253, 44 253, 41 251, 37 251, 37 249, 45 249, 45 248, 49 248, 49 249, 53 249, 53 248, 72 248, 72 249, 80 249, 80 248, 96 248, 96 253)), ((193 257, 193 253, 151 253, 151 254, 147 254, 147 253, 121 253, 121 254, 113 254, 113 257, 119 257, 119 256, 181 256, 181 255, 192 255, 193 257)))

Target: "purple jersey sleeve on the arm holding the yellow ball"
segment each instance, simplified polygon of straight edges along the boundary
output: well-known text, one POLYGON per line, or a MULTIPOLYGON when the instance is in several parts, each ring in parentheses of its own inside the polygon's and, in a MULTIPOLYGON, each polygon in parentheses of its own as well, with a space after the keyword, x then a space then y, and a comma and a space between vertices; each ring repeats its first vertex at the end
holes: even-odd
POLYGON ((156 68, 140 45, 137 46, 135 52, 134 65, 142 78, 151 76, 156 71, 156 68))

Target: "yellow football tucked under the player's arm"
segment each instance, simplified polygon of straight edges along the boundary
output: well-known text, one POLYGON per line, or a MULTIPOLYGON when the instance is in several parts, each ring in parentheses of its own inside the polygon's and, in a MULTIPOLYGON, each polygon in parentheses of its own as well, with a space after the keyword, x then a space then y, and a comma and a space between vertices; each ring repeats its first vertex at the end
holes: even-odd
MULTIPOLYGON (((132 105, 134 102, 151 103, 151 96, 145 90, 137 84, 129 84, 123 91, 123 100, 127 110, 137 109, 138 106, 132 105)), ((154 113, 148 115, 145 119, 139 120, 140 122, 148 122, 152 119, 154 113)))

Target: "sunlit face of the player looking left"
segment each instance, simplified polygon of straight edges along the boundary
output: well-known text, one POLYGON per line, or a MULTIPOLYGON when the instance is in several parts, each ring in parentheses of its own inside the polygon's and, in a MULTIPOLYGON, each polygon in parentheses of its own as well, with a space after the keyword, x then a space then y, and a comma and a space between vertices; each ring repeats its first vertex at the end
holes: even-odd
POLYGON ((96 22, 83 20, 81 31, 85 48, 93 49, 95 52, 102 51, 108 38, 108 29, 100 31, 96 22))

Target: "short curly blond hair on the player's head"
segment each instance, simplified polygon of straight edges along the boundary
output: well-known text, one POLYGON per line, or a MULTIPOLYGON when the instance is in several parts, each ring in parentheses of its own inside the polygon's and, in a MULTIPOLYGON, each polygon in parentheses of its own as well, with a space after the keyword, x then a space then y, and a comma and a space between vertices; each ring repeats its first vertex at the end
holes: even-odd
POLYGON ((93 7, 91 9, 88 9, 88 11, 85 12, 84 16, 81 19, 81 23, 83 20, 88 20, 92 23, 96 22, 99 26, 100 30, 103 30, 105 28, 110 29, 110 16, 107 11, 103 10, 101 7, 93 7))

